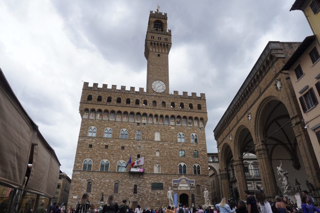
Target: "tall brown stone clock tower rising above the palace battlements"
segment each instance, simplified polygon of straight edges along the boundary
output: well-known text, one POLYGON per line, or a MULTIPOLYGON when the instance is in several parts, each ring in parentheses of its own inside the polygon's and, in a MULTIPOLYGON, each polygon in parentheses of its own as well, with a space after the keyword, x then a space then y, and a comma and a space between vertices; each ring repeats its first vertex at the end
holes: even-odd
POLYGON ((144 56, 147 59, 147 92, 169 94, 171 30, 167 30, 167 13, 150 11, 144 56))

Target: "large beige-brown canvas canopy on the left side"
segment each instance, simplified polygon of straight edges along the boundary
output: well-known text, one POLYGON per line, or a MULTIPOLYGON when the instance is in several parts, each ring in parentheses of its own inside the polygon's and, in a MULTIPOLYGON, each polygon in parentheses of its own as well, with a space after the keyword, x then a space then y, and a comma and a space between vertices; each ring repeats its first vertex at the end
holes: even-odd
POLYGON ((60 171, 59 160, 23 109, 1 69, 0 156, 1 182, 22 187, 31 160, 31 173, 25 189, 53 197, 60 171))

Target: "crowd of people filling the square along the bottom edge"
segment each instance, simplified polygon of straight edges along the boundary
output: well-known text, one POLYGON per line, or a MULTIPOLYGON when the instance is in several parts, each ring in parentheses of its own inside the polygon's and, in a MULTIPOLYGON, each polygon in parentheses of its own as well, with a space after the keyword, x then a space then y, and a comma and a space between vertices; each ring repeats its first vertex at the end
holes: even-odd
POLYGON ((94 204, 89 202, 89 194, 83 194, 81 200, 76 207, 65 209, 64 206, 57 206, 56 202, 50 207, 50 213, 320 213, 320 206, 318 208, 313 204, 313 199, 308 195, 307 191, 302 191, 301 209, 294 208, 294 203, 286 197, 276 196, 276 202, 268 201, 266 195, 261 191, 255 191, 254 196, 250 195, 250 191, 244 191, 246 201, 240 200, 236 203, 233 200, 223 198, 220 203, 215 206, 208 206, 203 209, 200 205, 195 207, 182 206, 180 203, 178 207, 168 206, 159 208, 141 208, 138 205, 136 208, 130 208, 126 204, 126 200, 118 203, 114 200, 113 194, 108 195, 107 201, 100 208, 95 208, 94 204))

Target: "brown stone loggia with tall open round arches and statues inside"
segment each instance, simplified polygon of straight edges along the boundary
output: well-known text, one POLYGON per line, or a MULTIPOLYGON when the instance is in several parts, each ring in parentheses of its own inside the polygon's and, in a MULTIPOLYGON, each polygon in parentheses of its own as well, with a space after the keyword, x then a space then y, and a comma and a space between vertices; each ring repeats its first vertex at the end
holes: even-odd
MULTIPOLYGON (((240 199, 244 199, 247 180, 244 154, 257 156, 262 188, 274 199, 281 189, 277 167, 287 170, 307 189, 306 179, 314 186, 316 200, 320 171, 312 149, 291 80, 280 72, 299 42, 269 42, 214 129, 220 168, 234 164, 240 199)), ((222 193, 229 197, 228 171, 221 170, 222 193)), ((308 190, 309 191, 309 190, 308 190)))

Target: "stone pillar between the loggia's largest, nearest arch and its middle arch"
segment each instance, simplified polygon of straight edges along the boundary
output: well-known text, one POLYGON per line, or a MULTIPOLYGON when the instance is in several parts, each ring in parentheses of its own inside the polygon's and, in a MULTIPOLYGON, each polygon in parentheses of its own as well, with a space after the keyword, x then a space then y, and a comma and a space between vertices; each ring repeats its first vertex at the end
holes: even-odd
POLYGON ((259 164, 259 171, 261 174, 264 194, 268 198, 274 198, 274 194, 277 194, 277 186, 275 183, 275 175, 273 174, 272 164, 266 145, 261 143, 255 145, 255 153, 259 164), (272 174, 270 174, 270 172, 272 174))

